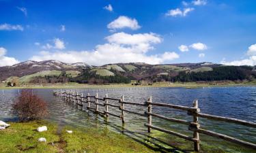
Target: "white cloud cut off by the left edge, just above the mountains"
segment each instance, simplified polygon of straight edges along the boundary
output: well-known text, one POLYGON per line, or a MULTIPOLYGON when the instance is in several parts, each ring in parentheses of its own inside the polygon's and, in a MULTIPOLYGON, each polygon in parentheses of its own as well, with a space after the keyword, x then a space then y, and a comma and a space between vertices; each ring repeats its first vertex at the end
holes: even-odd
POLYGON ((5 48, 0 47, 0 67, 15 65, 19 63, 19 61, 15 58, 5 56, 6 52, 7 50, 5 48))

